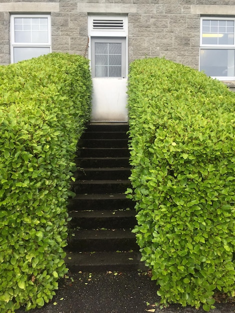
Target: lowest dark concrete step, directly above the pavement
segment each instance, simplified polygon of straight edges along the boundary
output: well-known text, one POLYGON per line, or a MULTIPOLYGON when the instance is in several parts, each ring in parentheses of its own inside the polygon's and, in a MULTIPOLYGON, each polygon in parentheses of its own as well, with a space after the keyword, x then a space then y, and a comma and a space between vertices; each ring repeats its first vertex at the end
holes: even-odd
POLYGON ((71 272, 146 270, 140 252, 68 252, 65 264, 71 272))

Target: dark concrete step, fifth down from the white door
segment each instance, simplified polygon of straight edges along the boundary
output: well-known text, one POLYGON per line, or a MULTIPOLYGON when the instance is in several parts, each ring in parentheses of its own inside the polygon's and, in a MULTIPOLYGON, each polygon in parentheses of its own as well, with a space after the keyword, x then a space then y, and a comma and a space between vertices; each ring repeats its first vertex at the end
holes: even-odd
POLYGON ((79 167, 129 167, 128 157, 76 157, 79 167))

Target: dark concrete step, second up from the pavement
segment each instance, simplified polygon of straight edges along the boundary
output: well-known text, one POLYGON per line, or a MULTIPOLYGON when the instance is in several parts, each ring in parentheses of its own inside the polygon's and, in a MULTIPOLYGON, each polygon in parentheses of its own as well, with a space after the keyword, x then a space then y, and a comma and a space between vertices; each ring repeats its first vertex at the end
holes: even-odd
POLYGON ((130 229, 78 229, 68 235, 67 251, 138 251, 130 229))

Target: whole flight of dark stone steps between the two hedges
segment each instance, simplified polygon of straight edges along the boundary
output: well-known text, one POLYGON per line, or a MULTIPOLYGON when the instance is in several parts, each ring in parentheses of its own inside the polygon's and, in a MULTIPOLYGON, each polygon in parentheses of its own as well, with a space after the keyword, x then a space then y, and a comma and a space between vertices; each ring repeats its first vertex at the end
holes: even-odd
POLYGON ((91 123, 79 141, 71 186, 76 195, 68 205, 65 261, 71 272, 143 269, 131 233, 134 202, 124 194, 130 186, 127 130, 127 123, 91 123))

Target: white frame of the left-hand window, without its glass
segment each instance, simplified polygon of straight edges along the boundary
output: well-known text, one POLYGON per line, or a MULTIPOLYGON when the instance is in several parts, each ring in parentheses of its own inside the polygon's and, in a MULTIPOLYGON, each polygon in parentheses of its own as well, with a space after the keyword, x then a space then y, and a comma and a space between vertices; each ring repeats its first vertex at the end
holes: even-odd
POLYGON ((51 21, 50 14, 11 14, 10 16, 10 61, 14 63, 14 47, 46 47, 51 52, 51 21), (48 42, 15 42, 14 18, 47 18, 48 42))

